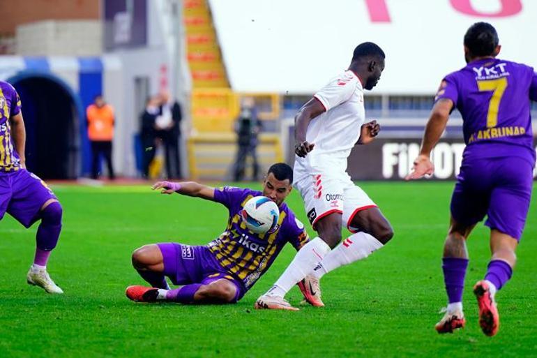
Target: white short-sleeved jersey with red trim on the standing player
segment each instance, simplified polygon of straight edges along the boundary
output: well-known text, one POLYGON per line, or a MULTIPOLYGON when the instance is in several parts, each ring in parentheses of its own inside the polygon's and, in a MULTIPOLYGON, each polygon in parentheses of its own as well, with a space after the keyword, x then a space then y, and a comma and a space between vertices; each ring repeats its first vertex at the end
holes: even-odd
POLYGON ((326 111, 310 121, 306 140, 315 147, 305 158, 295 156, 295 182, 313 173, 345 175, 365 121, 362 84, 351 70, 334 77, 314 98, 326 111))

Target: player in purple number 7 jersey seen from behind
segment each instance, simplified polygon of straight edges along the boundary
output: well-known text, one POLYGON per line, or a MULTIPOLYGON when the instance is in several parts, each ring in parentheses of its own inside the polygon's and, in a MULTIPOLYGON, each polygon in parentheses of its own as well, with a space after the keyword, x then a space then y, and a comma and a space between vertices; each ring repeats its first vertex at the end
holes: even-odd
POLYGON ((498 34, 478 22, 464 35, 467 66, 442 80, 425 127, 421 153, 407 179, 432 174, 430 154, 456 107, 464 121, 460 174, 451 197, 451 225, 444 244, 444 282, 448 306, 437 323, 439 333, 464 327, 462 290, 468 267, 466 239, 485 215, 490 228, 492 259, 482 281, 474 285, 483 333, 499 327, 495 294, 510 279, 515 249, 529 208, 535 150, 530 100, 537 100, 537 75, 523 64, 496 59, 498 34))

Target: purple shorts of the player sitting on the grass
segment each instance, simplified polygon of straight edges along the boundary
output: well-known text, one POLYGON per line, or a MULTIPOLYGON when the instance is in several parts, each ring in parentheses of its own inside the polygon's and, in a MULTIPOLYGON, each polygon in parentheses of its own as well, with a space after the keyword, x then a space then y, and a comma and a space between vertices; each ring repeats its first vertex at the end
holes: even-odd
POLYGON ((239 301, 246 290, 241 281, 226 272, 206 246, 190 246, 166 242, 157 244, 164 261, 164 274, 174 285, 201 283, 209 285, 222 278, 236 286, 233 302, 239 301))

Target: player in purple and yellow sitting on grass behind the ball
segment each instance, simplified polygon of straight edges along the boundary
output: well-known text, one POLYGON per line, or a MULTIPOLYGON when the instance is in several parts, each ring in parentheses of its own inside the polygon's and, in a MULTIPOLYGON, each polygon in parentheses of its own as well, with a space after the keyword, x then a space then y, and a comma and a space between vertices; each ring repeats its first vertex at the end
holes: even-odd
MULTIPOLYGON (((219 202, 229 209, 225 231, 206 246, 161 243, 142 246, 133 253, 133 266, 152 287, 130 286, 133 301, 171 301, 182 304, 235 303, 271 267, 287 242, 299 250, 308 243, 304 225, 295 218, 285 198, 292 190, 293 171, 285 163, 269 168, 263 192, 250 189, 211 188, 193 181, 160 181, 153 189, 219 202), (244 204, 264 195, 280 208, 278 225, 265 234, 250 232, 241 218, 244 204), (180 288, 170 290, 167 276, 180 288)), ((305 281, 303 286, 309 283, 305 281)), ((307 297, 306 297, 307 298, 307 297)))

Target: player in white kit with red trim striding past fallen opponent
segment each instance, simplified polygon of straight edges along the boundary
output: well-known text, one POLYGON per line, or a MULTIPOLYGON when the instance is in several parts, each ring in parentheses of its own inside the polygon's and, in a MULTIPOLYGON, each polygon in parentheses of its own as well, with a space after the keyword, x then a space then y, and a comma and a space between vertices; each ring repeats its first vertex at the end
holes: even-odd
MULTIPOLYGON (((384 52, 375 43, 354 49, 349 69, 317 92, 295 116, 294 186, 318 237, 303 246, 255 308, 296 310, 285 299, 303 278, 324 274, 366 258, 392 237, 390 223, 370 197, 347 174, 347 158, 356 144, 378 135, 377 121, 365 123, 363 90, 372 89, 384 70, 384 52), (345 225, 352 234, 341 241, 345 225), (338 245, 339 244, 339 245, 338 245)), ((302 281, 302 283, 301 283, 302 281)), ((318 283, 318 281, 317 281, 318 283)), ((319 290, 308 284, 308 301, 324 306, 319 290)))

